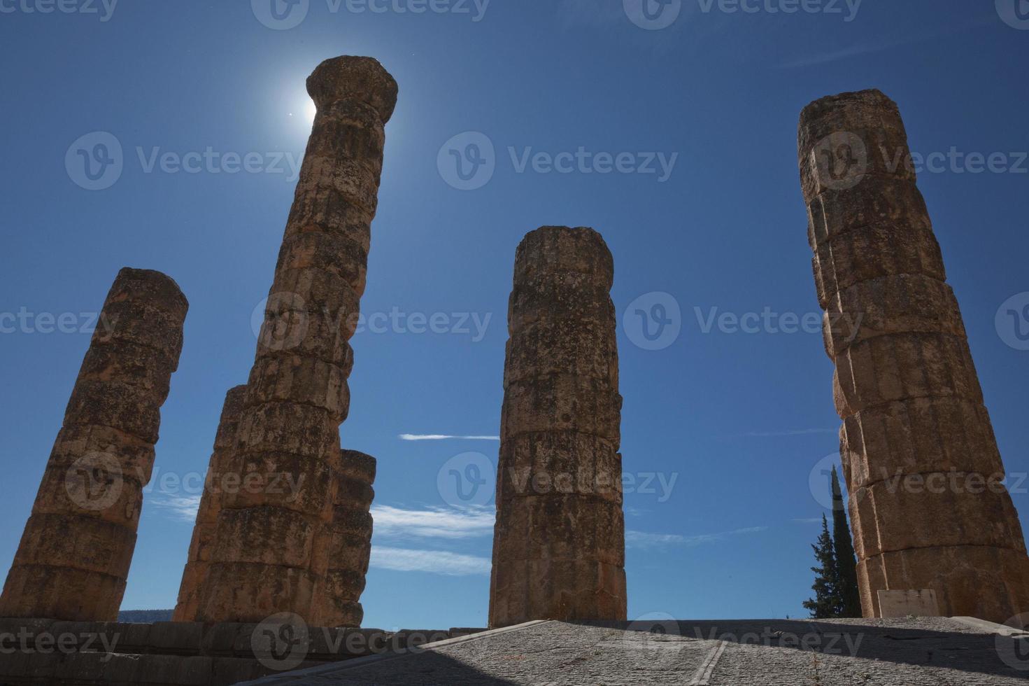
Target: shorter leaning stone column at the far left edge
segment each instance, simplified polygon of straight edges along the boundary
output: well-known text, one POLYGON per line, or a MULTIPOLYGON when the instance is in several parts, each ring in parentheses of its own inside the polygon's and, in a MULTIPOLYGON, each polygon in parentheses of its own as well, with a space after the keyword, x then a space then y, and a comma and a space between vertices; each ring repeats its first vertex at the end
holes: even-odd
POLYGON ((0 617, 117 619, 188 303, 159 272, 118 272, 0 596, 0 617))

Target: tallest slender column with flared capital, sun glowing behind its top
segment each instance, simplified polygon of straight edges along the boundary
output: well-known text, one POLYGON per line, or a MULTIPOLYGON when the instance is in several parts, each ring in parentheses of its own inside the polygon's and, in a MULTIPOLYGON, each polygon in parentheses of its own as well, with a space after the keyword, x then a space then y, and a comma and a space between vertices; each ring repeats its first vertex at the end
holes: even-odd
POLYGON ((348 341, 364 290, 393 77, 370 58, 326 60, 308 78, 318 111, 250 373, 235 471, 201 621, 311 619, 328 571, 315 539, 332 518, 340 423, 350 405, 348 341))

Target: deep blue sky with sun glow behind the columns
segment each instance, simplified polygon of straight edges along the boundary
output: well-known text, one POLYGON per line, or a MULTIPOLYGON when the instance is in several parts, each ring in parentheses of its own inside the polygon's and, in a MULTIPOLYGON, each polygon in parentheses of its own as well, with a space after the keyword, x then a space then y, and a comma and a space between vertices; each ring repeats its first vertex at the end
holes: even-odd
POLYGON ((603 234, 619 320, 641 297, 672 320, 658 350, 619 321, 630 616, 805 614, 827 489, 813 495, 810 475, 832 461, 840 421, 821 336, 784 333, 795 324, 779 315, 818 312, 795 132, 828 94, 883 90, 922 155, 1003 153, 993 172, 931 165, 920 187, 1006 467, 1029 471, 1029 352, 996 321, 1029 290, 1029 3, 809 0, 785 13, 770 10, 789 0, 751 0, 754 12, 682 0, 647 19, 633 0, 438 0, 422 13, 399 11, 429 6, 418 0, 310 0, 284 29, 265 26, 268 2, 65 0, 73 11, 43 13, 45 0, 0 0, 0 313, 15 315, 0 318, 0 568, 88 344, 83 313, 120 267, 157 269, 190 311, 122 609, 173 606, 196 500, 176 481, 203 474, 224 392, 246 381, 310 127, 304 79, 342 54, 378 58, 400 84, 362 300, 381 316, 353 341, 342 428, 379 459, 366 625, 487 621, 492 500, 457 508, 437 476, 492 469, 498 444, 399 436, 498 434, 514 247, 541 225, 603 234), (65 162, 96 132, 120 145, 121 169, 90 191, 65 162), (485 161, 488 178, 459 190, 449 150, 471 142, 480 156, 463 160, 485 161), (234 153, 249 171, 229 173, 234 153), (757 333, 706 324, 766 311, 757 333), (40 313, 68 314, 65 333, 40 313), (445 333, 413 313, 443 313, 445 333))

